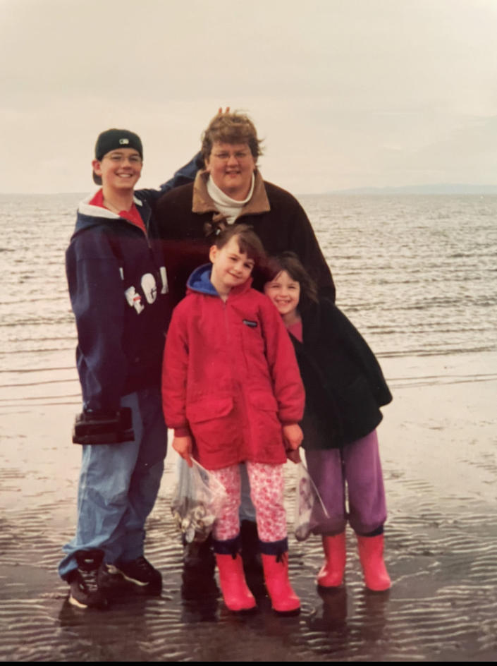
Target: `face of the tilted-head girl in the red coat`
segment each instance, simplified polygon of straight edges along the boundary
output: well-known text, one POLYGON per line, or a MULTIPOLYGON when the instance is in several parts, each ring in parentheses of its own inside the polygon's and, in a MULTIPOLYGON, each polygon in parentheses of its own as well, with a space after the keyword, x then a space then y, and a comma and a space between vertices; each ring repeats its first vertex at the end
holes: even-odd
POLYGON ((249 279, 254 260, 240 251, 238 236, 230 238, 222 248, 211 247, 209 259, 212 262, 211 283, 220 296, 227 296, 233 287, 249 279))

